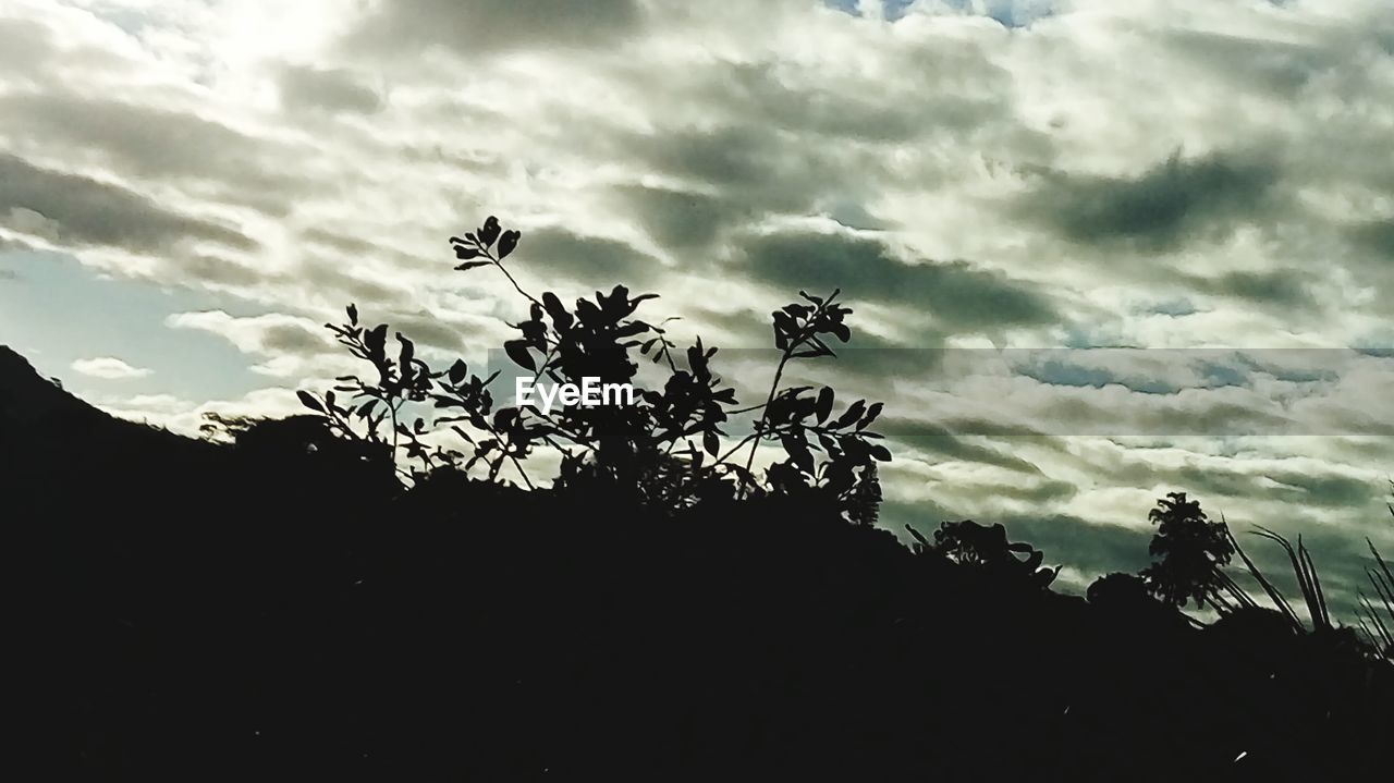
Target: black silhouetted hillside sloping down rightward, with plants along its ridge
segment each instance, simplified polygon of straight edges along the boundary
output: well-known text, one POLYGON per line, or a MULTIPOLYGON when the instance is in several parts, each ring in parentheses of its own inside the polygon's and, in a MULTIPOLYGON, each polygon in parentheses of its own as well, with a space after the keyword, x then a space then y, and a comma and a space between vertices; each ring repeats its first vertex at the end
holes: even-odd
MULTIPOLYGON (((516 244, 487 224, 456 252, 499 266, 516 244)), ((605 340, 643 332, 626 320, 637 300, 616 288, 573 312, 544 294, 519 326, 537 351, 509 355, 606 376, 629 347, 605 340)), ((832 297, 806 300, 775 318, 789 355, 824 344, 809 334, 845 340, 832 297)), ((311 415, 212 422, 206 440, 114 419, 0 348, 0 509, 21 542, 32 630, 18 638, 40 660, 54 777, 1388 773, 1388 651, 1326 617, 1301 548, 1303 612, 1248 599, 1220 570, 1242 550, 1184 495, 1154 511, 1149 571, 1062 595, 1043 553, 998 525, 945 522, 913 546, 874 525, 884 446, 864 401, 832 418, 831 392, 771 392, 757 431, 788 458, 754 483, 700 429, 707 464, 729 472, 700 474, 704 450, 675 461, 616 442, 605 426, 625 422, 542 432, 470 407, 467 368, 431 371, 408 340, 389 359, 385 327, 357 319, 336 332, 379 372, 347 389, 378 404, 307 394, 311 415), (414 454, 404 478, 381 439, 339 429, 417 392, 496 437, 474 447, 489 479, 443 451, 414 454), (500 478, 528 437, 562 436, 595 446, 553 486, 500 478), (1189 619, 1188 599, 1220 620, 1189 619)), ((654 340, 645 354, 669 346, 654 340)), ((645 410, 718 410, 711 352, 673 357, 677 380, 645 410)), ((400 426, 392 447, 410 453, 421 425, 400 426)))

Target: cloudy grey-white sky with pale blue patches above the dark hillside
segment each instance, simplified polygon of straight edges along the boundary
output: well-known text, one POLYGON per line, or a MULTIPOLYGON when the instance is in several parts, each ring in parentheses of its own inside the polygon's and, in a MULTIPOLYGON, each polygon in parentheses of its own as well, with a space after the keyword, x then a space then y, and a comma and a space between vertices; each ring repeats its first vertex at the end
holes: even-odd
POLYGON ((530 287, 728 348, 841 286, 875 350, 807 376, 885 400, 891 528, 1079 589, 1185 490, 1345 600, 1394 550, 1391 131, 1387 0, 7 0, 0 343, 178 432, 297 412, 348 302, 500 344, 446 242, 498 215, 530 287))

